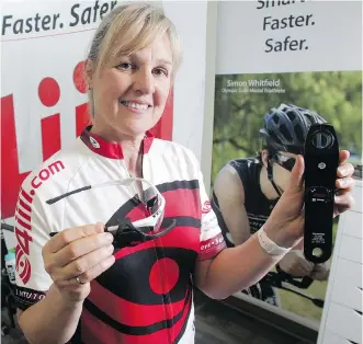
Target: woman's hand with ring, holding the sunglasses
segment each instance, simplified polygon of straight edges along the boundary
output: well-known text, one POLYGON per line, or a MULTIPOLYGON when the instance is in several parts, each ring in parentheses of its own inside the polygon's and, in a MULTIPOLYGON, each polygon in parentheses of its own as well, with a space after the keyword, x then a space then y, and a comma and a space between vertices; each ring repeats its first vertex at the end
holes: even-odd
POLYGON ((68 228, 43 246, 45 271, 65 302, 83 301, 91 291, 90 282, 113 265, 112 242, 113 236, 95 223, 68 228))

